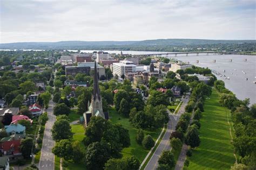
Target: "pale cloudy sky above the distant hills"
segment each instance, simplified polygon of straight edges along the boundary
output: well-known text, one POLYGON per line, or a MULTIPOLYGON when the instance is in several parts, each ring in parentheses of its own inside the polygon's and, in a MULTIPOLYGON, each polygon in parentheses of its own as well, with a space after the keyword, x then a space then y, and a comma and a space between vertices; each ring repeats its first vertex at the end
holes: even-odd
POLYGON ((256 39, 255 0, 0 0, 0 43, 256 39))

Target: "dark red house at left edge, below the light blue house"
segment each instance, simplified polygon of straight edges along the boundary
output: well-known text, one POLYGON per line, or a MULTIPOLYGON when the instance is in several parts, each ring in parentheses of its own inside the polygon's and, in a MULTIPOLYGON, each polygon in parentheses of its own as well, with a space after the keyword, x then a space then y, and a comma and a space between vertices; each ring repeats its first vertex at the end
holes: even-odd
POLYGON ((0 151, 2 155, 9 157, 9 159, 15 159, 21 157, 22 153, 19 147, 21 146, 21 135, 10 135, 0 140, 0 151))

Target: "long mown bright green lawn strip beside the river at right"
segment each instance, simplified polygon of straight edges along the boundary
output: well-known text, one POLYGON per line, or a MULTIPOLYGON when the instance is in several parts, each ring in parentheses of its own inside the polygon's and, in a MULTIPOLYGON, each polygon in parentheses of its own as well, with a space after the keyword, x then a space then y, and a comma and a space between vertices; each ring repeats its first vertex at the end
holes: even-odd
MULTIPOLYGON (((188 169, 230 169, 235 162, 227 123, 230 112, 220 106, 219 95, 214 89, 210 99, 205 101, 204 110, 199 131, 201 144, 188 158, 188 169)), ((229 121, 232 125, 231 118, 229 121)))

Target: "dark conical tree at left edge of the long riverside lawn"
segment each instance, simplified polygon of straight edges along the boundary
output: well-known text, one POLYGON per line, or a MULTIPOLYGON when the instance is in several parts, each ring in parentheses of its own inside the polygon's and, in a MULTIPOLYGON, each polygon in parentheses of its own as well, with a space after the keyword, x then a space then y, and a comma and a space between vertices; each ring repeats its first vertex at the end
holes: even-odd
POLYGON ((188 127, 188 130, 185 136, 185 144, 190 145, 192 148, 198 147, 200 145, 199 132, 196 125, 192 125, 188 127))

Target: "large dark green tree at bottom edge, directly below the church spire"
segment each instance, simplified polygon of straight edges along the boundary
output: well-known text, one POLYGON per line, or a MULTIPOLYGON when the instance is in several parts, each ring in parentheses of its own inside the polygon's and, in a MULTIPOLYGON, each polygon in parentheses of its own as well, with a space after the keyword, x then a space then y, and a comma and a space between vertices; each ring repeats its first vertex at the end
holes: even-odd
POLYGON ((104 142, 92 142, 86 149, 86 168, 103 169, 110 157, 109 145, 104 142))

